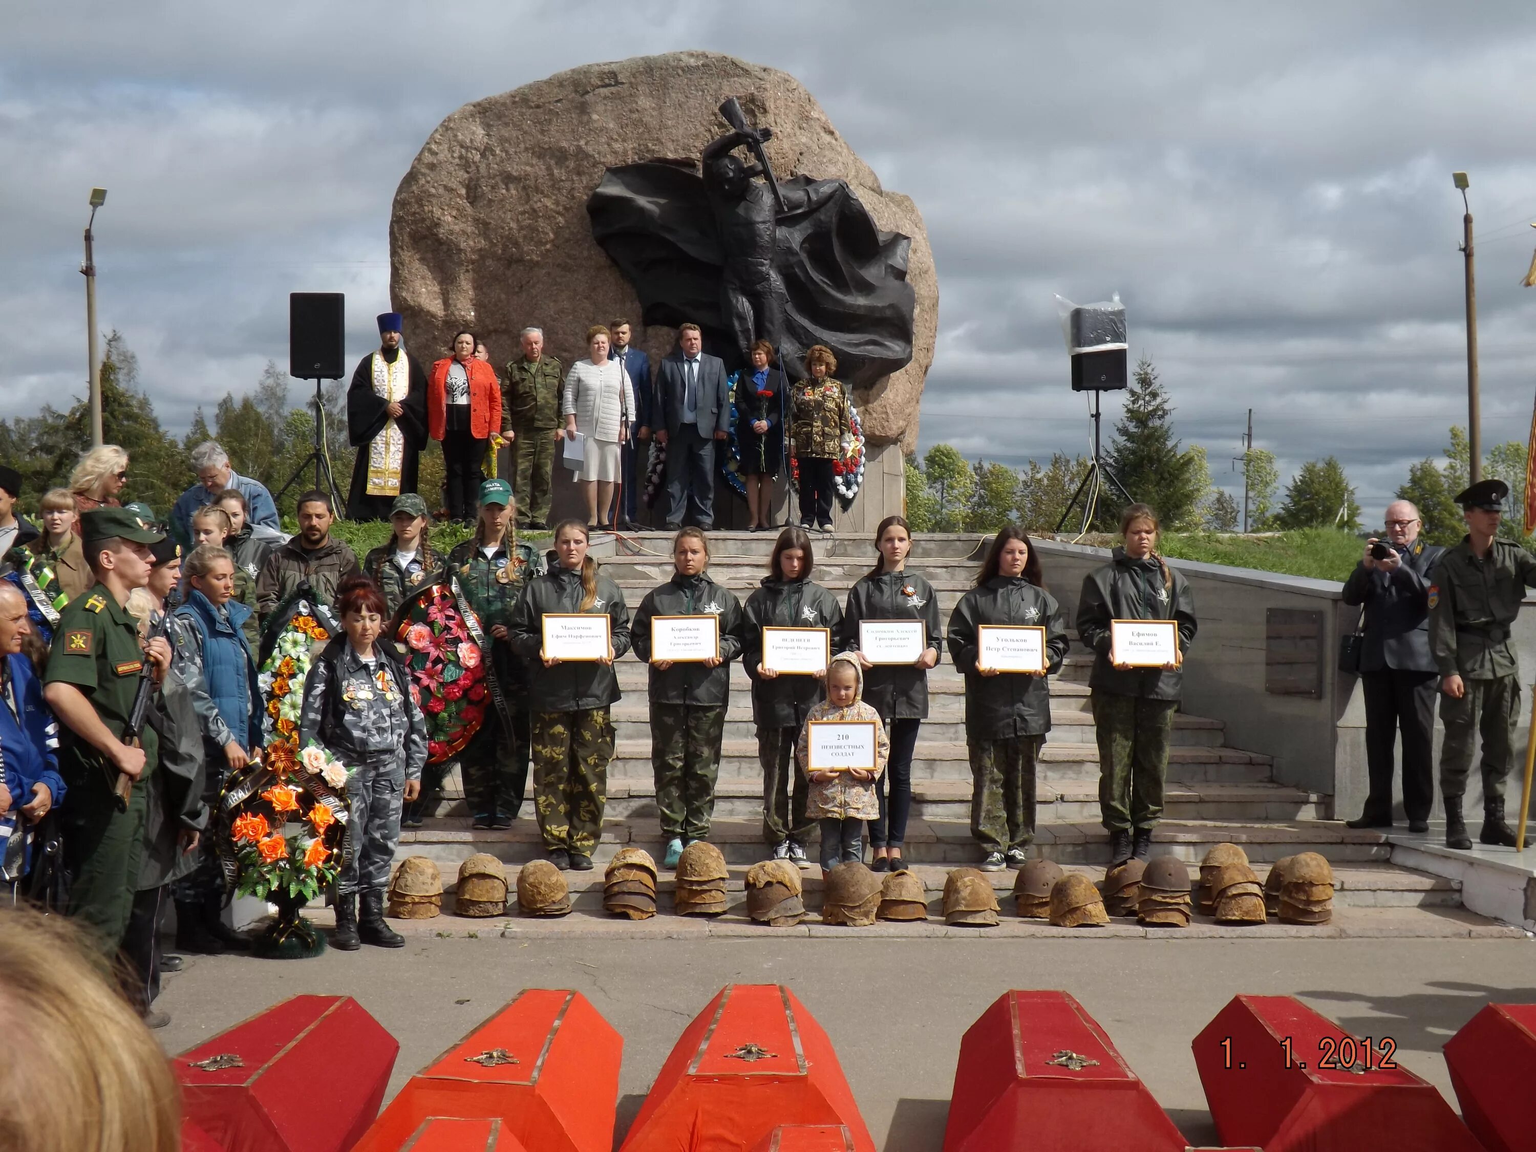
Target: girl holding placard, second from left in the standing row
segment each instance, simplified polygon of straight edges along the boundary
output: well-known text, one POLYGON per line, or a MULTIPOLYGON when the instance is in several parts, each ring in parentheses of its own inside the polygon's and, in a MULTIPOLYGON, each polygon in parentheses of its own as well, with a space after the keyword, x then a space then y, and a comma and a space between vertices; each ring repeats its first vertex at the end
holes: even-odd
POLYGON ((647 593, 634 614, 634 654, 651 665, 651 770, 667 840, 664 868, 676 868, 687 845, 710 839, 730 665, 742 654, 740 601, 710 579, 708 567, 703 533, 682 528, 673 538, 673 578, 647 593), (710 627, 699 617, 711 617, 710 627))

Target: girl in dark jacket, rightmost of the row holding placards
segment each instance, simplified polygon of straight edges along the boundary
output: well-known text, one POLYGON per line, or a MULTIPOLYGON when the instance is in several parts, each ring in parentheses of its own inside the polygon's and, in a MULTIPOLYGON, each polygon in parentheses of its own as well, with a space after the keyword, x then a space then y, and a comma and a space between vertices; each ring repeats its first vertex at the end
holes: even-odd
POLYGON ((1077 634, 1094 650, 1094 727, 1098 733, 1098 806, 1112 865, 1152 852, 1163 814, 1163 779, 1183 687, 1184 651, 1195 639, 1195 594, 1157 554, 1157 513, 1132 504, 1120 518, 1124 545, 1083 578, 1077 634), (1163 664, 1114 662, 1115 621, 1170 621, 1178 647, 1163 664))

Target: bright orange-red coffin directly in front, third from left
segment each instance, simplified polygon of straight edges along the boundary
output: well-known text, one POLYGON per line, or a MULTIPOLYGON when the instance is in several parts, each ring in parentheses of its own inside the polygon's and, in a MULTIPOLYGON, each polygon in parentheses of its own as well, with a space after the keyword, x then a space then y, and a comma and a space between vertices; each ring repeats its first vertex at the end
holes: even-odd
POLYGON ((782 985, 727 985, 662 1064, 621 1152, 742 1152, 779 1126, 874 1141, 826 1032, 782 985))

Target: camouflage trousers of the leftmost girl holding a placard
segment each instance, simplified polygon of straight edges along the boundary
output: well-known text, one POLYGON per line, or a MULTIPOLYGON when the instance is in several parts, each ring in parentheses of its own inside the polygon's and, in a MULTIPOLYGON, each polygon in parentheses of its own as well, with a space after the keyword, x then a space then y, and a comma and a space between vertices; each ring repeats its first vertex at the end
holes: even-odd
POLYGON ((607 708, 533 713, 533 808, 548 849, 591 856, 608 802, 613 720, 607 708))

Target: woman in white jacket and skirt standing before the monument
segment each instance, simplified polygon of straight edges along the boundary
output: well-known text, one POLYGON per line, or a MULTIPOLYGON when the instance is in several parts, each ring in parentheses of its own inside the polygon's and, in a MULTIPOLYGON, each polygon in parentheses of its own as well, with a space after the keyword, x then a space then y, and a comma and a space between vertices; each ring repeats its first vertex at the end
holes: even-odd
POLYGON ((561 415, 567 442, 579 432, 585 438, 582 465, 576 473, 587 501, 590 530, 613 531, 613 485, 619 479, 619 445, 630 435, 634 389, 624 364, 608 359, 608 329, 587 329, 587 359, 565 373, 561 415))

